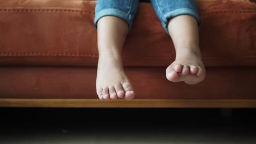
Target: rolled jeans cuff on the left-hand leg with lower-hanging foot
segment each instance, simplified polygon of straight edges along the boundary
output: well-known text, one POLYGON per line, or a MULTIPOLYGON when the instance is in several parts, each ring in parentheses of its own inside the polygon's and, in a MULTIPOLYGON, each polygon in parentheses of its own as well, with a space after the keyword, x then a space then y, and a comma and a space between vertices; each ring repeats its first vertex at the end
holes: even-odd
POLYGON ((100 20, 101 17, 104 17, 104 16, 116 16, 116 17, 119 17, 120 19, 125 20, 129 26, 129 31, 130 31, 131 15, 127 14, 124 11, 121 11, 119 9, 104 9, 104 10, 99 11, 94 18, 94 27, 95 28, 97 28, 98 20, 100 20))

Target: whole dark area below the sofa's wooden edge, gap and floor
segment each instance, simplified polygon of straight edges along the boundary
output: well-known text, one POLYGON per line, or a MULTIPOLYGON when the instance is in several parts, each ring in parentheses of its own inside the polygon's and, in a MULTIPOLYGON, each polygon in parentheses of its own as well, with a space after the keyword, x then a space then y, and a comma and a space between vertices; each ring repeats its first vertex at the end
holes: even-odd
POLYGON ((232 115, 221 115, 220 111, 0 108, 0 143, 40 143, 41 140, 44 140, 41 143, 62 143, 62 140, 67 143, 83 143, 87 139, 118 139, 116 143, 120 143, 122 139, 135 139, 143 143, 146 137, 148 143, 158 143, 159 137, 177 142, 256 142, 256 109, 232 109, 232 115), (169 135, 172 137, 169 138, 169 135), (212 141, 213 137, 215 141, 212 141))

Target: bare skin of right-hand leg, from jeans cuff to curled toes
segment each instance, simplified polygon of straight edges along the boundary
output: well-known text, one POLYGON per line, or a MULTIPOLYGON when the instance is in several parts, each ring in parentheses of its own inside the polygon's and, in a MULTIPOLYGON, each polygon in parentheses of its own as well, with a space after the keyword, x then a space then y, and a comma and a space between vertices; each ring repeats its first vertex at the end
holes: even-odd
POLYGON ((168 23, 168 30, 173 40, 176 59, 166 69, 168 80, 184 81, 196 84, 205 79, 205 67, 199 49, 199 34, 194 17, 181 15, 168 23))

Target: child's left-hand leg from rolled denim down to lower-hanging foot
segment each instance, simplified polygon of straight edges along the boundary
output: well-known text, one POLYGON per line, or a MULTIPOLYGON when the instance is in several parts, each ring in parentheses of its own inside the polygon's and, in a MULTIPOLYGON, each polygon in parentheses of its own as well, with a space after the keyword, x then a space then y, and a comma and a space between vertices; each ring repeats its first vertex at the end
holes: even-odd
POLYGON ((95 26, 99 59, 96 89, 100 99, 135 97, 132 85, 124 73, 121 50, 138 4, 137 0, 97 1, 95 26))

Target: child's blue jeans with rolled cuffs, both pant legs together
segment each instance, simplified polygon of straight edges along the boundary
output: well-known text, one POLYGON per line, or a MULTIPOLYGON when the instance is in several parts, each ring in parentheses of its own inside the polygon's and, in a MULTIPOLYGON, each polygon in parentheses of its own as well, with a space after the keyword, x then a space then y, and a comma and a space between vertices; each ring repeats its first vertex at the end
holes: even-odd
MULTIPOLYGON (((200 18, 195 0, 150 0, 150 2, 167 33, 168 20, 179 15, 193 16, 200 27, 200 18)), ((116 16, 125 20, 130 30, 138 7, 139 0, 97 0, 94 19, 95 28, 97 28, 97 22, 101 17, 116 16)))

